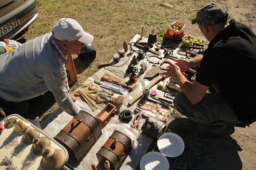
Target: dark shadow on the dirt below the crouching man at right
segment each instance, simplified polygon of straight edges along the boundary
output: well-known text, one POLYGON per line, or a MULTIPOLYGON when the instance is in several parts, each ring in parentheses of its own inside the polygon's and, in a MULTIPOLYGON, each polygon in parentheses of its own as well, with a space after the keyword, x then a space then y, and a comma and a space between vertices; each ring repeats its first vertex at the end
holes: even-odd
MULTIPOLYGON (((243 167, 238 155, 242 149, 231 136, 218 138, 198 136, 196 124, 187 118, 172 120, 166 132, 178 134, 185 143, 185 150, 179 157, 167 157, 170 169, 241 170, 243 167)), ((157 140, 149 146, 147 152, 150 151, 160 152, 157 148, 157 140)))

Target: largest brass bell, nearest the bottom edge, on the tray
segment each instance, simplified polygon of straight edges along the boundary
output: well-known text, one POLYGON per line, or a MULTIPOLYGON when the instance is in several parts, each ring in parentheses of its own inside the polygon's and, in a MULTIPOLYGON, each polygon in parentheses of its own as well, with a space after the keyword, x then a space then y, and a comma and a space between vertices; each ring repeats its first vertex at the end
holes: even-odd
POLYGON ((59 170, 65 164, 65 153, 60 149, 47 146, 42 151, 41 167, 44 170, 59 170))

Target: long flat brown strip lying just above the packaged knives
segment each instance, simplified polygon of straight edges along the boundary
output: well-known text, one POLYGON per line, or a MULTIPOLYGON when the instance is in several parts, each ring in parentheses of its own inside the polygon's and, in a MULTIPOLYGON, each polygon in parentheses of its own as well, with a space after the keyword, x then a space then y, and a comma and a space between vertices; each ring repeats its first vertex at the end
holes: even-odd
POLYGON ((123 81, 123 80, 121 80, 121 79, 119 79, 115 76, 109 75, 108 73, 103 74, 101 76, 101 78, 104 79, 104 80, 110 81, 114 84, 121 85, 121 86, 123 86, 125 88, 128 88, 128 89, 131 89, 131 90, 134 90, 138 87, 138 85, 135 84, 135 83, 131 83, 129 81, 123 81))

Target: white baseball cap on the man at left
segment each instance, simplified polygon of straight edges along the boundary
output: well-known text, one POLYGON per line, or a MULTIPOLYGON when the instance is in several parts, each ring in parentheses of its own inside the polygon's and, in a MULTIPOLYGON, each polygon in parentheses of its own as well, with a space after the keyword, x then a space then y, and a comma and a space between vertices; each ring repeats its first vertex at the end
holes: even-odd
POLYGON ((53 26, 53 37, 61 41, 78 40, 84 44, 90 44, 93 36, 84 31, 82 26, 71 18, 61 18, 53 26))

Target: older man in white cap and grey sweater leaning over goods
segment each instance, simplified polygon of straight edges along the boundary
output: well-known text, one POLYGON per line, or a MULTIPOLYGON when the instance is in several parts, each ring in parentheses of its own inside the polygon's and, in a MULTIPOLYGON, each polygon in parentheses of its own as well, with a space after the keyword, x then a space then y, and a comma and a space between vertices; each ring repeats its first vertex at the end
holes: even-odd
POLYGON ((50 90, 69 114, 79 112, 69 92, 65 63, 68 54, 78 54, 93 36, 74 19, 61 18, 51 33, 29 40, 0 56, 0 107, 6 115, 23 115, 28 100, 50 90), (73 101, 72 101, 73 100, 73 101))

